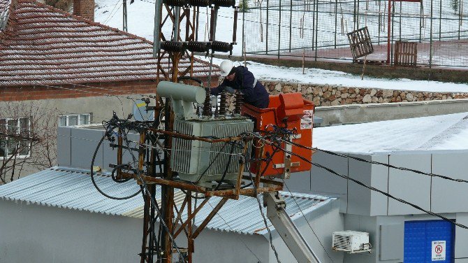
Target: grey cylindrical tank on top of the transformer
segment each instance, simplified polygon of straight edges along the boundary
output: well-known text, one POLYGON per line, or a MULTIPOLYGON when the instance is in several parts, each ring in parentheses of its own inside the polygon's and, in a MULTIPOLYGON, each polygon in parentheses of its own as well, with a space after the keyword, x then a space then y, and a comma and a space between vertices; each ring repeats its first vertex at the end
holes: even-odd
POLYGON ((192 85, 161 81, 158 84, 156 93, 161 97, 172 97, 181 101, 196 102, 198 104, 205 101, 205 89, 192 85))

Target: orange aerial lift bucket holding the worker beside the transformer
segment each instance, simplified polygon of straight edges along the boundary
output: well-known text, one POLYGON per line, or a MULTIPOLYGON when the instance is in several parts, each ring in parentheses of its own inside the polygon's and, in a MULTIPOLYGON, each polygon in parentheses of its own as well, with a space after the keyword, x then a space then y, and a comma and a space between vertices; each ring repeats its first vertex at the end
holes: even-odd
MULTIPOLYGON (((268 131, 282 129, 291 132, 289 139, 296 144, 312 147, 312 126, 314 103, 302 98, 300 92, 270 96, 268 108, 256 108, 249 104, 242 107, 242 115, 249 116, 255 122, 256 131, 265 135, 268 131)), ((281 148, 312 161, 312 150, 301 148, 291 143, 281 143, 281 148)), ((260 139, 254 141, 256 159, 270 159, 260 166, 251 165, 250 171, 262 176, 289 178, 292 172, 309 171, 312 164, 282 150, 275 150, 272 145, 260 139), (263 155, 260 148, 263 146, 263 155)))

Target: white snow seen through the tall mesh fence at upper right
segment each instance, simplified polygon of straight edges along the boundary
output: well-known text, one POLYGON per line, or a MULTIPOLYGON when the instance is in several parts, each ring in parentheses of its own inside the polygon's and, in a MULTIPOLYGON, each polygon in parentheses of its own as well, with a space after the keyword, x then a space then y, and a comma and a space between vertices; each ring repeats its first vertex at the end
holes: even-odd
MULTIPOLYGON (((306 3, 307 1, 296 0, 249 1, 251 9, 245 15, 245 27, 249 29, 250 34, 250 37, 246 38, 247 52, 265 54, 265 51, 269 50, 275 53, 279 47, 283 52, 292 49, 293 52, 296 50, 296 52, 302 53, 303 48, 307 50, 314 45, 314 37, 312 36, 314 27, 318 30, 317 46, 333 48, 337 45, 338 47, 345 46, 347 48, 349 40, 346 33, 354 30, 353 21, 356 19, 358 28, 364 26, 368 28, 374 45, 386 43, 387 41, 387 18, 381 16, 386 15, 385 1, 361 2, 361 6, 358 7, 360 14, 357 16, 354 15, 356 3, 353 1, 320 1, 319 5, 316 6, 317 10, 319 10, 317 24, 315 24, 314 13, 310 12, 314 6, 309 6, 309 9, 307 9, 306 3), (258 3, 261 3, 261 6, 258 6, 258 3), (292 4, 291 7, 290 4, 292 4), (268 16, 267 5, 270 6, 268 16), (278 6, 281 6, 281 13, 279 13, 278 6), (266 41, 267 21, 268 48, 266 41), (263 27, 261 27, 261 24, 263 27), (338 34, 335 34, 335 32, 338 34)), ((460 0, 458 3, 465 6, 468 4, 466 0, 460 0)), ((422 1, 422 3, 395 2, 395 17, 393 19, 393 30, 397 34, 395 38, 415 41, 415 39, 418 40, 421 37, 422 42, 429 42, 431 28, 438 30, 440 27, 444 40, 458 39, 460 17, 453 10, 452 4, 446 1, 441 6, 441 14, 439 14, 439 6, 434 6, 432 9, 434 9, 434 17, 441 16, 444 20, 433 19, 432 26, 430 26, 431 1, 422 1), (423 17, 422 20, 420 20, 420 17, 423 17), (441 24, 439 24, 440 22, 441 24)), ((464 29, 466 27, 462 27, 462 38, 467 36, 464 29)), ((438 38, 434 37, 434 39, 438 38)), ((322 48, 322 50, 326 50, 326 48, 322 48)), ((438 50, 438 48, 434 47, 434 50, 438 50)), ((428 63, 429 52, 427 50, 421 51, 418 50, 418 60, 428 63)), ((438 57, 439 55, 436 52, 432 54, 433 59, 437 59, 441 64, 447 64, 449 61, 444 58, 446 50, 440 51, 442 52, 441 57, 438 57)), ((463 59, 466 59, 466 57, 463 57, 463 59)))

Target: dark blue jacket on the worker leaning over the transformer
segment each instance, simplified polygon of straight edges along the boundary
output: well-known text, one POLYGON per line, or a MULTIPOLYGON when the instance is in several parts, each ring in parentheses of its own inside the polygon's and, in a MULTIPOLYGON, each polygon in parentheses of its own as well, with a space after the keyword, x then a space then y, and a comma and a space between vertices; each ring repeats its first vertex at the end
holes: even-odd
POLYGON ((254 87, 255 77, 244 66, 237 66, 235 69, 235 78, 233 81, 224 80, 221 85, 211 89, 211 94, 218 95, 226 86, 232 87, 234 90, 240 90, 244 94, 244 102, 257 108, 268 108, 270 103, 270 94, 260 81, 257 81, 254 87))

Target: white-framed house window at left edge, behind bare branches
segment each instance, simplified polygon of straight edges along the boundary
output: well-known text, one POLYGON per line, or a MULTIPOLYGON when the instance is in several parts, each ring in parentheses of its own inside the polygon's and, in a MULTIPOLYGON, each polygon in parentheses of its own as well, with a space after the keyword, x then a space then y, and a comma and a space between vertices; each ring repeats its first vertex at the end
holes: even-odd
POLYGON ((0 119, 0 158, 11 155, 27 157, 31 150, 29 118, 0 119))

